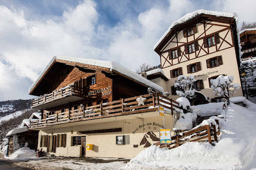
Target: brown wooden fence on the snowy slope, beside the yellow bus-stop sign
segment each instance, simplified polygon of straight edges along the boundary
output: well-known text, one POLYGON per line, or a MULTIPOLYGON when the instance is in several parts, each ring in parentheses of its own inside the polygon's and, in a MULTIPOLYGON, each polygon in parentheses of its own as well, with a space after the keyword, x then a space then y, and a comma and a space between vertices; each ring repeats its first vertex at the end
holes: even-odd
MULTIPOLYGON (((198 141, 206 138, 209 143, 212 143, 212 137, 214 141, 218 142, 217 134, 219 135, 219 120, 215 120, 218 128, 216 129, 216 125, 204 125, 196 129, 192 129, 189 131, 182 132, 178 135, 171 136, 171 144, 167 144, 168 149, 172 149, 178 147, 186 142, 190 141, 198 141)), ((157 142, 156 146, 165 147, 165 144, 157 142)))

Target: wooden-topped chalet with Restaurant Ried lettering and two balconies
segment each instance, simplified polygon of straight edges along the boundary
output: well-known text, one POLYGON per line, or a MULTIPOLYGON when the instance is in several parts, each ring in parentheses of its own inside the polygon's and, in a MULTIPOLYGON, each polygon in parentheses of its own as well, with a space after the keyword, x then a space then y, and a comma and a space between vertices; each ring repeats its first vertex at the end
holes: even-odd
POLYGON ((115 62, 55 56, 29 89, 42 113, 29 129, 39 131, 38 149, 55 156, 133 158, 159 141, 159 104, 166 128, 179 118, 164 92, 115 62))

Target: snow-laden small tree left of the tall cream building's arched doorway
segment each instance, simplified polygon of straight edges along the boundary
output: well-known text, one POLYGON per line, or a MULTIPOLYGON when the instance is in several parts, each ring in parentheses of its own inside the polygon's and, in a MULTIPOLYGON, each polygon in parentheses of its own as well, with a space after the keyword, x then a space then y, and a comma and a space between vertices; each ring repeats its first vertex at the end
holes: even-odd
POLYGON ((189 100, 194 98, 196 89, 193 88, 195 80, 194 75, 184 76, 179 75, 177 83, 174 84, 174 87, 178 87, 179 90, 176 90, 177 95, 180 97, 185 97, 189 100))

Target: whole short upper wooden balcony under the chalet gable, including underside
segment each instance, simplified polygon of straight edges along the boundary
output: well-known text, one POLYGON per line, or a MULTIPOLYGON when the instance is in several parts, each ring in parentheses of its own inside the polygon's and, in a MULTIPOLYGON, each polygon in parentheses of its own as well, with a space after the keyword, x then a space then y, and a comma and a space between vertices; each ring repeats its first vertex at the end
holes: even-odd
POLYGON ((70 84, 69 86, 55 90, 52 93, 33 99, 31 108, 47 109, 83 98, 82 88, 70 84))

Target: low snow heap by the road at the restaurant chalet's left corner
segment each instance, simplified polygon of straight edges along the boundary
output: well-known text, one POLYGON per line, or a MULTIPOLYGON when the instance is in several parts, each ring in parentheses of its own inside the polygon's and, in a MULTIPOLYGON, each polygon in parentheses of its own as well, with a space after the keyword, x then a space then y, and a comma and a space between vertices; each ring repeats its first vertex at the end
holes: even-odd
POLYGON ((12 155, 9 157, 5 157, 8 159, 25 159, 34 157, 36 155, 35 150, 31 150, 29 147, 21 147, 20 149, 16 150, 12 155))

